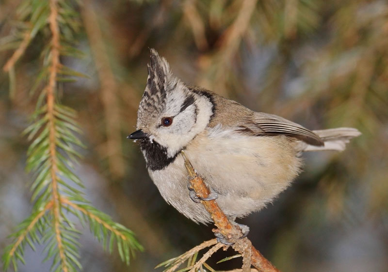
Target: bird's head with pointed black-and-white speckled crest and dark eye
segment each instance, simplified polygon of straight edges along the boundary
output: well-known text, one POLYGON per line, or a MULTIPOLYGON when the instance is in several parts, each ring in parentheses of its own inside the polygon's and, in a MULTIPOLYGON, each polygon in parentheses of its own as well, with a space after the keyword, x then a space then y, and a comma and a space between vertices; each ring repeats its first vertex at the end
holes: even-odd
POLYGON ((151 49, 150 58, 146 90, 138 110, 138 130, 129 138, 141 139, 143 152, 159 148, 173 158, 206 128, 214 105, 209 97, 174 76, 155 49, 151 49))

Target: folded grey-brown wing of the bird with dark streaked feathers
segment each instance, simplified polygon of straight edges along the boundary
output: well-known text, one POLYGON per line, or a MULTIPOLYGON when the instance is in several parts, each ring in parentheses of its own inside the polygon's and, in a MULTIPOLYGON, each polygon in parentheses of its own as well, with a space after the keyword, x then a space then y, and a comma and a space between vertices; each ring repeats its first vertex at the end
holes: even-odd
POLYGON ((324 145, 323 140, 307 128, 282 117, 262 112, 254 112, 247 117, 239 125, 238 131, 255 136, 286 135, 310 145, 324 145))

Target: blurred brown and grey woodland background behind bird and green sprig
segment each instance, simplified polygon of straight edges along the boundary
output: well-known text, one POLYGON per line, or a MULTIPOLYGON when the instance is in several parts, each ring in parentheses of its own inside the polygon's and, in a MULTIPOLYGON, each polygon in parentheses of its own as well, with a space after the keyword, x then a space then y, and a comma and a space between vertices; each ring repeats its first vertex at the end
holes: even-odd
MULTIPOLYGON (((19 0, 0 0, 0 37, 13 31, 19 0)), ((98 209, 132 229, 145 251, 129 268, 83 230, 83 271, 153 271, 213 238, 160 196, 133 132, 149 48, 183 81, 280 115, 309 129, 356 127, 362 136, 341 153, 304 155, 305 171, 271 205, 240 223, 282 271, 388 271, 388 2, 385 0, 87 0, 77 10, 76 47, 62 58, 88 78, 59 85, 77 110, 87 148, 77 166, 98 209)), ((0 72, 0 253, 31 212, 29 142, 21 136, 36 97, 44 36, 0 72)), ((13 50, 3 47, 2 67, 13 50)), ((81 225, 79 226, 80 228, 81 225)), ((49 271, 40 248, 26 248, 22 272, 49 271)), ((213 268, 241 267, 234 255, 213 268)), ((157 271, 162 271, 161 269, 157 271)))

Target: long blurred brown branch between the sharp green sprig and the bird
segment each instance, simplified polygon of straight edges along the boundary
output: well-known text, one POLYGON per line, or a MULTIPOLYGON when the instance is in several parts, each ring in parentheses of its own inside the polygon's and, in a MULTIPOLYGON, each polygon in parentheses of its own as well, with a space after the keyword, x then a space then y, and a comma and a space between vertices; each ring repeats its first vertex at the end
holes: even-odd
POLYGON ((121 117, 117 99, 118 85, 112 72, 93 3, 89 0, 84 1, 81 13, 101 85, 101 100, 105 111, 107 136, 104 153, 107 155, 111 174, 115 178, 121 178, 125 174, 125 164, 120 135, 121 117))

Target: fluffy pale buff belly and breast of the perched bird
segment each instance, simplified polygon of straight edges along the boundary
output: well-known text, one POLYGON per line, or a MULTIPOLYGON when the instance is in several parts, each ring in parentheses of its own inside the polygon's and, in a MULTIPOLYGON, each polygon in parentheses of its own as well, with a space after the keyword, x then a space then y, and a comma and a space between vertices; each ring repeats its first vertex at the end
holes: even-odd
MULTIPOLYGON (((294 143, 285 136, 241 136, 228 132, 197 136, 185 153, 206 184, 218 193, 218 205, 230 217, 259 211, 297 176, 301 165, 294 143)), ((210 216, 189 197, 183 158, 149 171, 163 198, 190 219, 210 216)))

